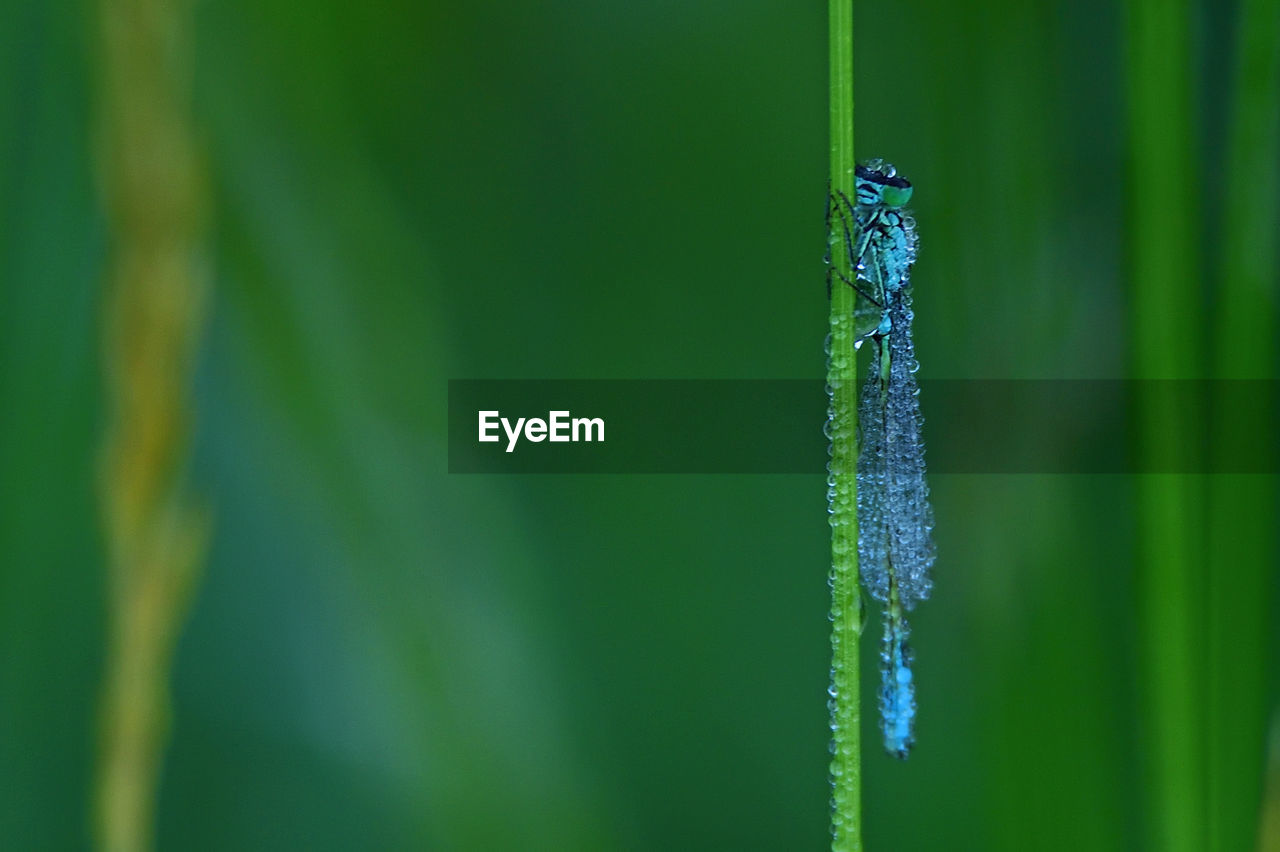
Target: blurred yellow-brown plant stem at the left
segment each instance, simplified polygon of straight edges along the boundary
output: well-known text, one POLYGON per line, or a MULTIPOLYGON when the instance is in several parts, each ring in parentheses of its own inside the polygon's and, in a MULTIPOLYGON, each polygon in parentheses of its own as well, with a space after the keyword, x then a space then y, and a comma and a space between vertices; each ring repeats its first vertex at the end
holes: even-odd
POLYGON ((186 4, 99 0, 97 10, 111 261, 99 469, 110 611, 95 832, 101 849, 137 852, 152 847, 169 664, 207 539, 205 513, 183 487, 204 302, 201 185, 186 4))

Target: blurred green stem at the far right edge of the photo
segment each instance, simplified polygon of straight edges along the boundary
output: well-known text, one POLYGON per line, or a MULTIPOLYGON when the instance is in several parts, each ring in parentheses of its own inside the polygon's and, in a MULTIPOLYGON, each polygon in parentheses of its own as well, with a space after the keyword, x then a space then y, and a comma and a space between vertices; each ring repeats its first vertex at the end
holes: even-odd
MULTIPOLYGON (((1235 32, 1213 376, 1272 379, 1280 272, 1280 0, 1244 0, 1235 32)), ((1224 383, 1217 389, 1212 446, 1225 459, 1233 448, 1257 445, 1272 421, 1268 394, 1254 393, 1256 385, 1224 383)), ((1257 461, 1257 471, 1272 469, 1274 455, 1257 461)), ((1267 673, 1274 664, 1267 611, 1275 513, 1274 477, 1211 478, 1206 606, 1211 852, 1256 846, 1267 752, 1267 673)))

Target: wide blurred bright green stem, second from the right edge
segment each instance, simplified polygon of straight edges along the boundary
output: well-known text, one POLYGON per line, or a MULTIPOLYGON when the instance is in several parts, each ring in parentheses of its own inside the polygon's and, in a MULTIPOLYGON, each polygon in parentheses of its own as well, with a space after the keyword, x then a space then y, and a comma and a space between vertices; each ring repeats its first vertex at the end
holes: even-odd
MULTIPOLYGON (((1190 379, 1203 351, 1190 4, 1129 0, 1126 12, 1133 375, 1190 379)), ((1167 386, 1139 388, 1147 469, 1194 463, 1197 425, 1167 386)), ((1207 848, 1202 501, 1192 476, 1149 473, 1137 485, 1144 848, 1197 852, 1207 848)))

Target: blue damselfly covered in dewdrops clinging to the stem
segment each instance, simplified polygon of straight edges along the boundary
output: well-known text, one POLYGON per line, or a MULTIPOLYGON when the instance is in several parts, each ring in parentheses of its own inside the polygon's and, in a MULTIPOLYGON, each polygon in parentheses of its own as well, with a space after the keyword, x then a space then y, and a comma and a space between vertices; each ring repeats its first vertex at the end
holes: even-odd
POLYGON ((933 508, 924 481, 915 345, 911 342, 911 264, 915 220, 902 207, 911 184, 893 166, 873 160, 858 166, 850 200, 838 189, 828 201, 831 247, 846 252, 852 280, 828 255, 831 276, 856 290, 860 347, 870 344, 870 371, 858 399, 858 560, 867 592, 884 605, 881 646, 881 725, 884 748, 906 757, 915 739, 906 611, 929 596, 933 567, 933 508))

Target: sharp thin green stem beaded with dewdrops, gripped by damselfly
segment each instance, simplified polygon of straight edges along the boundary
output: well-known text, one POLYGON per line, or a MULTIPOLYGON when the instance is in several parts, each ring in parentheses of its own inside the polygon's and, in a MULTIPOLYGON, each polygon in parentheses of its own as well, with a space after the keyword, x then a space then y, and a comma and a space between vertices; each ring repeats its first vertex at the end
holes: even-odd
MULTIPOLYGON (((831 188, 847 197, 854 187, 854 9, 852 0, 829 0, 831 38, 831 188)), ((831 262, 854 279, 845 252, 831 262)), ((861 597, 858 594, 858 362, 855 358, 854 290, 836 279, 831 293, 831 338, 827 385, 831 393, 828 432, 831 468, 831 760, 833 852, 860 852, 861 714, 859 711, 858 636, 861 597)))

